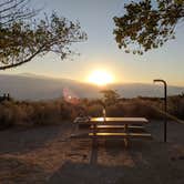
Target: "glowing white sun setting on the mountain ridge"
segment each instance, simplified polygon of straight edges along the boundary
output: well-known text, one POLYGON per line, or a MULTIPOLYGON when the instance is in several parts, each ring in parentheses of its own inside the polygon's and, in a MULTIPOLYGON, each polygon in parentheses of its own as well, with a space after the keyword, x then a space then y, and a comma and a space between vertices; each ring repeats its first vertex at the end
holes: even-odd
POLYGON ((113 76, 106 71, 95 70, 89 75, 88 81, 96 85, 106 85, 113 82, 113 76))

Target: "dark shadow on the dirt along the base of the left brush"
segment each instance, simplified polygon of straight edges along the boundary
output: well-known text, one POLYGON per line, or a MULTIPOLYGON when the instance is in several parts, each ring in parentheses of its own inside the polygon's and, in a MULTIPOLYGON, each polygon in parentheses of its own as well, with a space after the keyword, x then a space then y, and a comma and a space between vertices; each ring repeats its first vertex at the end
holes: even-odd
POLYGON ((28 153, 52 143, 54 139, 67 137, 69 123, 28 130, 10 129, 0 132, 0 155, 28 153))

